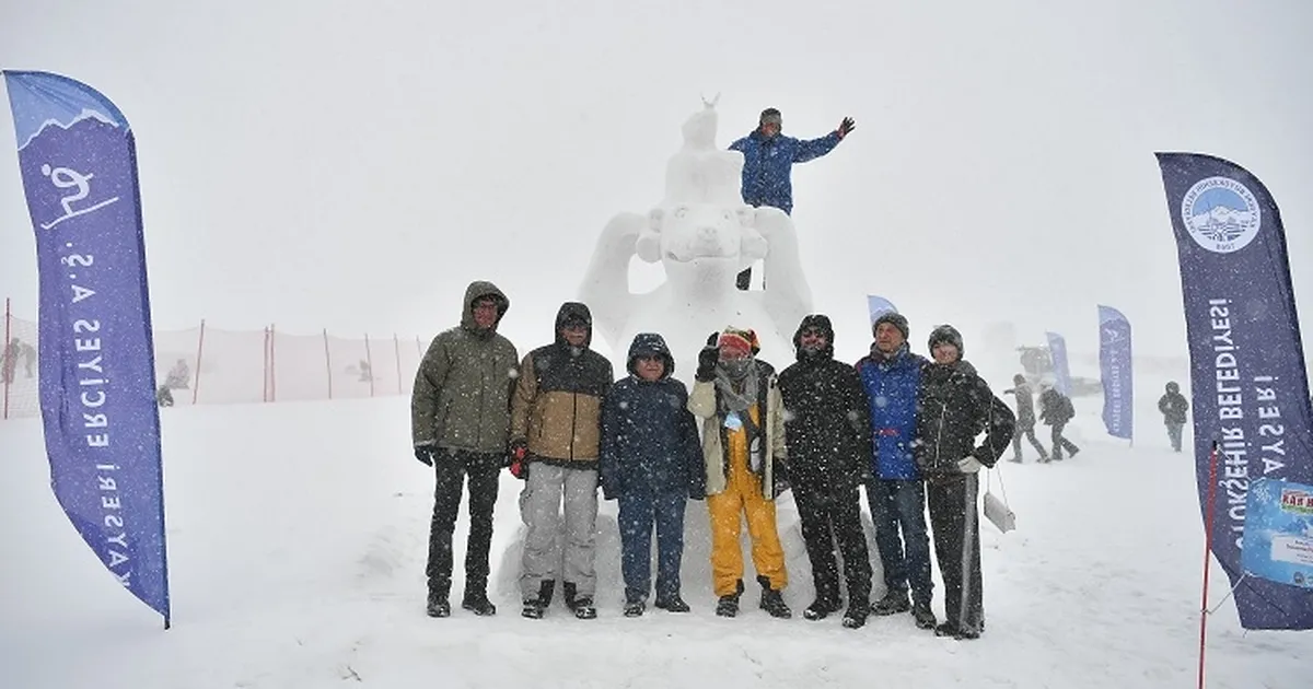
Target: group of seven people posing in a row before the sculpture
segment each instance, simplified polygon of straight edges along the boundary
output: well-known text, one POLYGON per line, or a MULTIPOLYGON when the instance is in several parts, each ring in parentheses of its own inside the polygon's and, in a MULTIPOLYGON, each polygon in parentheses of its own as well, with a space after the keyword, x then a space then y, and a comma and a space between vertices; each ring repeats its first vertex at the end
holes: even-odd
POLYGON ((436 472, 429 616, 452 610, 452 537, 466 482, 461 606, 495 614, 488 547, 499 472, 509 467, 525 480, 524 617, 546 614, 558 587, 575 617, 596 617, 599 488, 618 501, 626 617, 645 614, 650 598, 658 609, 689 610, 680 591, 688 500, 706 501, 716 613, 739 612, 746 521, 759 605, 792 617, 781 596, 789 580, 775 512, 775 499, 792 491, 815 584, 804 617, 843 612, 843 626, 856 629, 871 613, 910 612, 918 627, 941 637, 983 631, 978 472, 1003 454, 1015 417, 962 360, 962 337, 951 325, 931 332, 927 360, 911 352, 906 318, 884 314, 871 353, 853 366, 834 358, 830 319, 809 315, 793 336, 797 361, 780 371, 758 357, 752 331, 729 327, 706 339, 689 388, 674 377, 675 358, 658 333, 634 337, 616 381, 611 362, 590 346, 586 304, 563 304, 554 341, 520 360, 496 332, 509 308, 506 294, 474 282, 462 303, 461 324, 424 354, 411 398, 415 457, 436 472), (874 602, 861 487, 886 591, 874 602), (931 537, 943 622, 931 609, 931 537))

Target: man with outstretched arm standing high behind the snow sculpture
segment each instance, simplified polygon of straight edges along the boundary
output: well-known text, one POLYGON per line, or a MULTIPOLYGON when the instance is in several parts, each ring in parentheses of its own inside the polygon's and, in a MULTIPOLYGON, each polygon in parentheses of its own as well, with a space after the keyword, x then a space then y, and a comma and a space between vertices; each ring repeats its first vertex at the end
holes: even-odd
MULTIPOLYGON (((821 157, 839 146, 856 123, 843 118, 839 127, 819 139, 796 139, 780 133, 784 119, 780 110, 762 110, 758 127, 751 134, 730 144, 731 151, 743 154, 743 202, 752 207, 771 206, 793 214, 793 165, 821 157)), ((752 281, 752 268, 738 276, 738 289, 746 290, 752 281)))

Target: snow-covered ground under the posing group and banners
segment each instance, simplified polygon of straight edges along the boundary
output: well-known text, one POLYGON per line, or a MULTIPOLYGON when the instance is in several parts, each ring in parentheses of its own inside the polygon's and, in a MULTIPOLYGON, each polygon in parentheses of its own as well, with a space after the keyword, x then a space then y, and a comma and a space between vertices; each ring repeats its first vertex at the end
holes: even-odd
MULTIPOLYGON (((717 618, 702 503, 688 507, 692 614, 621 617, 607 503, 599 618, 574 619, 557 602, 546 619, 523 619, 509 475, 492 545, 499 614, 429 619, 431 479, 411 457, 402 398, 164 409, 173 593, 164 631, 55 504, 39 420, 8 421, 0 686, 1194 686, 1203 532, 1192 466, 1166 449, 1155 399, 1141 403, 1133 449, 1107 438, 1098 400, 1083 398, 1075 459, 1004 465, 1019 529, 983 526, 989 630, 976 642, 935 638, 909 616, 856 631, 838 618, 772 619, 756 609, 755 587, 744 614, 717 618)), ((457 529, 460 563, 463 518, 457 529)), ((798 613, 811 587, 789 499, 781 530, 793 579, 785 598, 798 613)), ((1226 583, 1215 575, 1220 601, 1226 583)), ((1246 634, 1229 602, 1211 619, 1209 686, 1306 688, 1310 658, 1313 635, 1246 634)))

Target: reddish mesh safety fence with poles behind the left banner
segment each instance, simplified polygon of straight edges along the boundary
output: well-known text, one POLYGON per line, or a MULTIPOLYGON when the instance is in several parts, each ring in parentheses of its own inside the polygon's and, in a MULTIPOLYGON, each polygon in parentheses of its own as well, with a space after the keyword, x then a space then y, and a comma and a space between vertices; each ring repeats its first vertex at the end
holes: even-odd
MULTIPOLYGON (((37 416, 37 323, 5 299, 0 340, 0 420, 37 416)), ((427 343, 420 337, 339 337, 194 328, 155 331, 155 377, 175 406, 408 395, 427 343)))

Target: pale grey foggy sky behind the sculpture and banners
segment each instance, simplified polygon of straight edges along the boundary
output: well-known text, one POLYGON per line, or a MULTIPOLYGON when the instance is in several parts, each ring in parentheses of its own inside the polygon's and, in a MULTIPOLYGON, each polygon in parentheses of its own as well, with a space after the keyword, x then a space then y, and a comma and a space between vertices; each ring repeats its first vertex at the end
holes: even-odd
MULTIPOLYGON (((952 322, 969 357, 995 320, 1094 352, 1104 303, 1137 353, 1184 357, 1154 151, 1226 157, 1271 189, 1310 348, 1309 3, 637 5, 3 0, 0 67, 85 81, 129 118, 156 328, 431 336, 491 280, 525 352, 721 93, 721 144, 767 106, 805 138, 857 121, 793 175, 815 308, 847 358, 869 343, 868 293, 909 315, 919 352, 952 322)), ((34 319, 7 105, 0 297, 34 319)), ((643 289, 658 274, 635 269, 643 289)))

